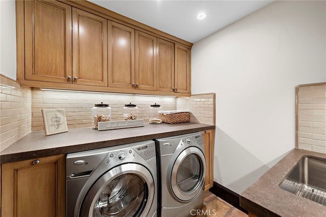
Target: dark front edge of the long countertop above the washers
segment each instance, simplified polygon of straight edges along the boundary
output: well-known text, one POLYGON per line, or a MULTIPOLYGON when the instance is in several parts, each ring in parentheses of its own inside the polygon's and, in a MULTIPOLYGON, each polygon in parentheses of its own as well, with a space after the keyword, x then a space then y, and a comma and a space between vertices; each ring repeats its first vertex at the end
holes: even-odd
POLYGON ((207 125, 204 127, 196 127, 196 128, 182 129, 182 130, 176 130, 170 132, 141 135, 139 137, 126 137, 124 139, 118 139, 112 141, 102 141, 102 142, 86 143, 86 144, 79 144, 79 145, 72 145, 72 146, 64 146, 58 148, 4 154, 4 155, 0 155, 0 164, 6 164, 8 162, 14 162, 20 160, 35 159, 39 157, 48 157, 48 156, 59 155, 59 154, 68 154, 72 152, 86 151, 86 150, 92 150, 97 148, 105 148, 105 147, 123 145, 123 144, 134 143, 134 142, 142 142, 146 140, 155 140, 159 138, 173 137, 175 135, 187 134, 187 133, 210 130, 210 129, 215 129, 215 125, 207 125))

